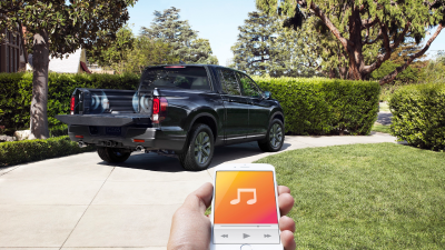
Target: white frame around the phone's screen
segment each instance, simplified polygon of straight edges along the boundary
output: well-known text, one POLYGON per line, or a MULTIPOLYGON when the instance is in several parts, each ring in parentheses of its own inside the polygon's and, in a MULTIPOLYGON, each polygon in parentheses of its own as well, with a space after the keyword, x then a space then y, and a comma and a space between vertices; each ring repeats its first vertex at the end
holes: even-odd
MULTIPOLYGON (((277 220, 279 221, 280 212, 278 206, 278 186, 275 173, 275 167, 271 164, 264 163, 226 163, 220 164, 215 168, 214 176, 214 198, 216 190, 216 176, 218 171, 271 171, 274 174, 274 189, 275 189, 275 206, 277 209, 277 220)), ((236 244, 214 244, 214 216, 215 216, 215 199, 211 199, 211 239, 210 239, 210 250, 239 250, 241 248, 241 243, 236 244)), ((251 250, 283 250, 281 239, 278 244, 249 244, 251 250)))

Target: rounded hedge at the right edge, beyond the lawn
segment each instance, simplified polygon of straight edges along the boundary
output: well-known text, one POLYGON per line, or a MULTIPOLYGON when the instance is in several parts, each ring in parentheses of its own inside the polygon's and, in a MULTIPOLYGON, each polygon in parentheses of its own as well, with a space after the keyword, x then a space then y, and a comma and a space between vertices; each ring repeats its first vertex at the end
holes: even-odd
POLYGON ((406 86, 389 99, 392 134, 409 144, 445 150, 445 82, 406 86))

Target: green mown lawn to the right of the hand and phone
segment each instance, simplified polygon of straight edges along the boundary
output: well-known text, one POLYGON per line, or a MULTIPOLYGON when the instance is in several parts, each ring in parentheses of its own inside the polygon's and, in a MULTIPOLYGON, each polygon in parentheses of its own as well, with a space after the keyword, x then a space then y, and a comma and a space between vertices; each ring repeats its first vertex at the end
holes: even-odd
POLYGON ((297 249, 445 249, 445 153, 377 143, 257 162, 291 190, 297 249))

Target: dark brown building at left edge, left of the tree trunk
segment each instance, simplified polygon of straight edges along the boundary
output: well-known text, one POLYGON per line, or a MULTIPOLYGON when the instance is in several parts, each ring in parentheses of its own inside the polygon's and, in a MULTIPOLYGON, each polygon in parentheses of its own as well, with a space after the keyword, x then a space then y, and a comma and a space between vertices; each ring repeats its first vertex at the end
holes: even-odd
POLYGON ((0 30, 0 34, 6 37, 0 42, 0 72, 12 73, 26 70, 28 54, 23 32, 26 28, 20 30, 19 26, 14 31, 0 30))

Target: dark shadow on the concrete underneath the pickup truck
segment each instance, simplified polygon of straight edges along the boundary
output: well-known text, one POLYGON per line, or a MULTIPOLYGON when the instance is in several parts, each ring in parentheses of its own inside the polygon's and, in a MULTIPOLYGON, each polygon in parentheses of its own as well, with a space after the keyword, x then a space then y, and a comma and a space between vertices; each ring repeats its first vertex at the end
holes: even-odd
MULTIPOLYGON (((290 143, 285 142, 280 151, 284 151, 290 147, 290 143)), ((224 146, 215 148, 214 159, 209 166, 214 168, 218 164, 221 164, 226 161, 233 161, 246 157, 253 157, 257 154, 265 153, 259 148, 256 141, 246 142, 241 144, 234 146, 224 146)), ((120 167, 120 168, 129 168, 129 169, 141 169, 149 171, 162 171, 162 172, 184 172, 185 170, 179 160, 176 158, 164 157, 157 153, 140 153, 135 152, 130 158, 123 163, 107 163, 105 161, 98 162, 98 164, 110 166, 110 167, 120 167)))

